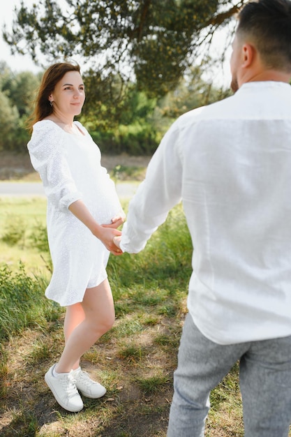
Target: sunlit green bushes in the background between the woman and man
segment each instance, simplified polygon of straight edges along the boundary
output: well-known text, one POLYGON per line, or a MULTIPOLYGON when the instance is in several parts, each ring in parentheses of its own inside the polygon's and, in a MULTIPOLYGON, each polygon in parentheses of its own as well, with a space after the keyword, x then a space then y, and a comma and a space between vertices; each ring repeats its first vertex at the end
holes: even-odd
MULTIPOLYGON (((199 66, 191 68, 187 77, 162 98, 149 98, 132 86, 124 98, 124 111, 119 126, 94 131, 94 118, 89 121, 89 131, 103 153, 127 152, 131 155, 151 155, 172 122, 181 114, 202 105, 221 100, 231 91, 216 89, 202 77, 199 66)), ((83 116, 82 116, 83 117, 83 116)), ((88 118, 84 117, 88 124, 88 118)), ((103 126, 105 127, 105 126, 103 126)))

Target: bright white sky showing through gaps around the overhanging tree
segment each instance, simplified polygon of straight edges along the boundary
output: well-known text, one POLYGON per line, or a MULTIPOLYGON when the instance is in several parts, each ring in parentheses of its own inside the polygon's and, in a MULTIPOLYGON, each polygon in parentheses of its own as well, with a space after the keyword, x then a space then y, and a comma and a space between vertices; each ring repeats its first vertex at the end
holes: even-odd
MULTIPOLYGON (((61 2, 62 0, 60 0, 61 2)), ((32 6, 33 3, 36 3, 37 0, 24 0, 24 5, 29 6, 29 8, 32 6)), ((38 66, 36 66, 29 55, 21 55, 21 54, 11 54, 10 53, 10 47, 2 38, 2 31, 3 31, 3 24, 6 24, 6 27, 8 30, 11 29, 11 25, 13 22, 13 15, 15 6, 20 6, 19 0, 1 0, 1 15, 0 15, 0 61, 6 61, 8 66, 12 71, 15 73, 18 73, 20 71, 32 71, 33 73, 38 73, 39 71, 42 71, 42 69, 38 66)), ((221 46, 225 40, 225 35, 223 32, 221 34, 218 34, 214 38, 214 44, 213 44, 213 50, 214 54, 217 54, 218 50, 221 50, 221 46)), ((230 51, 227 52, 227 56, 225 59, 225 62, 222 66, 217 68, 217 71, 209 72, 209 76, 212 80, 214 80, 214 83, 217 85, 228 87, 230 84, 230 68, 229 68, 229 58, 230 58, 230 51)))

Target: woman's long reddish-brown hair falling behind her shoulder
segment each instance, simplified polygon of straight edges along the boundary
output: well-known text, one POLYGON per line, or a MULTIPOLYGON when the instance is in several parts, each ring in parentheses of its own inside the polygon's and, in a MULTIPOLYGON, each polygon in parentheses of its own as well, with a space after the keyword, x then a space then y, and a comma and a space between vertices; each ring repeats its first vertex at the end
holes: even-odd
POLYGON ((47 68, 43 74, 43 79, 36 96, 34 111, 27 123, 30 133, 32 132, 33 124, 52 114, 52 106, 48 98, 52 91, 54 91, 56 84, 68 71, 78 71, 80 73, 80 66, 78 64, 70 64, 69 62, 59 62, 47 68))

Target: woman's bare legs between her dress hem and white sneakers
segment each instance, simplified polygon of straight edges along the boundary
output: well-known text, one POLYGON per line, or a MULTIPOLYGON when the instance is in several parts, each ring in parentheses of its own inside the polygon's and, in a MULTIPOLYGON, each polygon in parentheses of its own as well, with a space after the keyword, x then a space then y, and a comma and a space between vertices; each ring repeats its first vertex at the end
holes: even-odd
POLYGON ((114 302, 107 279, 97 287, 87 288, 83 302, 68 307, 67 313, 64 325, 66 346, 56 366, 58 373, 76 369, 80 357, 112 327, 114 302))

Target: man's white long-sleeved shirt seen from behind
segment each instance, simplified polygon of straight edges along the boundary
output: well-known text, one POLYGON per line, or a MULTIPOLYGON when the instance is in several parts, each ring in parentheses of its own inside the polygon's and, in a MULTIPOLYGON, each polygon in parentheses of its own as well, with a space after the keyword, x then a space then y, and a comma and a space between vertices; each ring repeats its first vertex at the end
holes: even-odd
POLYGON ((291 87, 248 82, 182 115, 130 201, 137 253, 183 202, 193 241, 188 310, 220 344, 291 334, 291 87))

